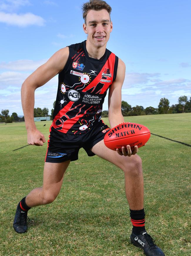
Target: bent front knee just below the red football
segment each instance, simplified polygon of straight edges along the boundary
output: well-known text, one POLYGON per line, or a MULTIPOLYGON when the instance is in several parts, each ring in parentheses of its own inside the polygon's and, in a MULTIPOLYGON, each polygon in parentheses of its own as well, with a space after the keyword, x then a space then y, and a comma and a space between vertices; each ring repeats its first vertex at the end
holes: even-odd
POLYGON ((123 164, 123 172, 125 174, 130 174, 130 175, 142 175, 142 160, 140 156, 138 155, 133 155, 130 156, 129 158, 125 159, 125 163, 123 164))

